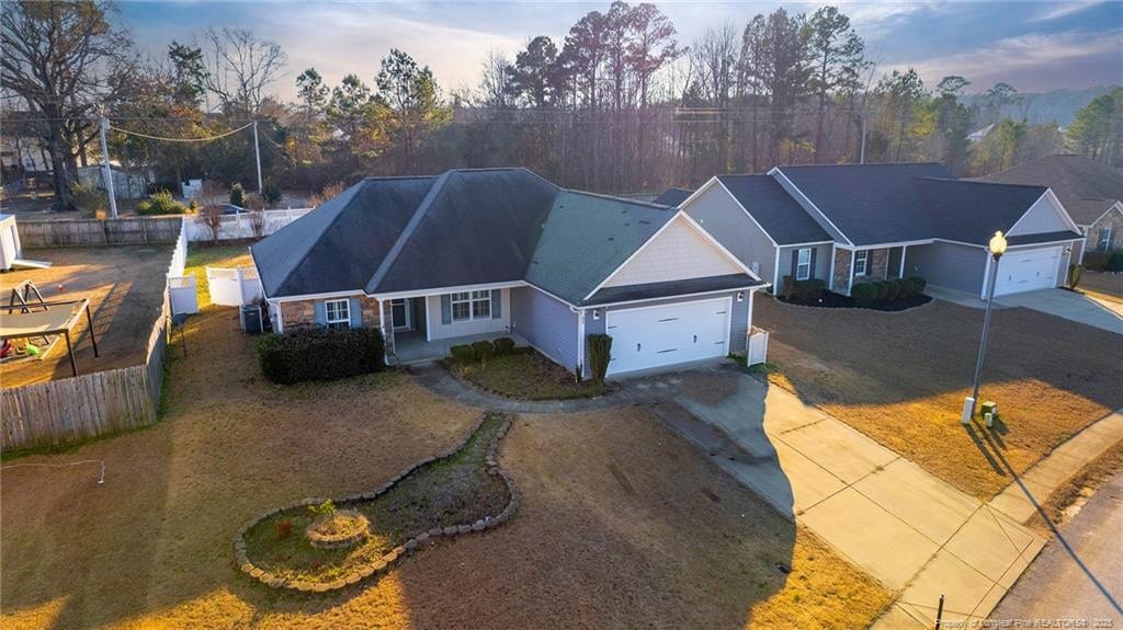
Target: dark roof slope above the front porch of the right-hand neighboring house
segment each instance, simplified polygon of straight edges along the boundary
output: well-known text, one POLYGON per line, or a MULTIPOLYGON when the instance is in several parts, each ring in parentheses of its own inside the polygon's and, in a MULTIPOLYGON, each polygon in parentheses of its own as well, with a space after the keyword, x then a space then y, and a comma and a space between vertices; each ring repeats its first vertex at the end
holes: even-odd
POLYGON ((858 245, 932 238, 917 178, 955 179, 940 164, 782 166, 779 170, 858 245))

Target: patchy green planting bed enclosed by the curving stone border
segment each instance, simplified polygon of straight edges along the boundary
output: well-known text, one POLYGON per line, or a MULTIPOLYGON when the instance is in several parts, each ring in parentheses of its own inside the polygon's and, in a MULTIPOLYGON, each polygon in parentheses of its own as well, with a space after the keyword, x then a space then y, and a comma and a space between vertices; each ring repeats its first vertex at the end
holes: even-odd
POLYGON ((305 529, 320 516, 294 508, 263 519, 246 531, 246 554, 257 567, 290 582, 330 582, 382 556, 435 527, 475 522, 495 517, 510 501, 502 478, 487 474, 487 446, 505 416, 489 414, 467 443, 447 457, 420 466, 373 500, 340 501, 340 510, 356 510, 369 521, 365 540, 339 549, 313 547, 305 529))

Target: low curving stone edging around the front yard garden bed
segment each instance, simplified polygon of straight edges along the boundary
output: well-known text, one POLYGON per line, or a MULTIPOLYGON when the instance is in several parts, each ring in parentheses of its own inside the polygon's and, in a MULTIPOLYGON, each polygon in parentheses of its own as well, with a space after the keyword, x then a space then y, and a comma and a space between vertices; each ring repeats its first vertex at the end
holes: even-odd
MULTIPOLYGON (((393 476, 390 481, 382 484, 377 490, 373 492, 360 492, 358 494, 350 494, 332 501, 336 501, 338 503, 347 503, 354 501, 372 501, 378 498, 381 494, 385 493, 391 488, 393 488, 395 483, 404 479, 407 475, 409 475, 417 469, 426 464, 432 463, 437 460, 449 457, 456 454, 456 452, 459 451, 460 448, 464 448, 464 446, 468 443, 468 441, 472 439, 472 436, 475 435, 476 430, 478 430, 480 427, 484 424, 484 420, 487 419, 487 415, 492 413, 493 411, 490 410, 482 413, 480 415, 480 419, 476 420, 472 429, 467 432, 464 439, 462 439, 459 443, 446 450, 439 455, 420 460, 407 466, 405 469, 402 470, 402 472, 398 473, 398 475, 393 476)), ((487 474, 499 475, 506 484, 508 489, 508 495, 509 495, 508 503, 503 508, 503 510, 495 517, 485 516, 484 518, 478 519, 472 524, 450 525, 444 528, 440 527, 431 528, 428 531, 423 531, 414 536, 413 538, 405 540, 404 543, 394 547, 390 552, 383 554, 380 559, 368 565, 358 567, 348 573, 345 577, 337 578, 331 582, 290 581, 289 578, 281 577, 280 575, 275 575, 266 569, 255 566, 252 562, 249 562, 249 557, 246 554, 245 536, 246 532, 249 531, 252 527, 254 527, 255 525, 267 518, 276 516, 282 511, 302 507, 309 507, 309 506, 319 506, 328 500, 328 499, 302 499, 300 501, 294 501, 292 503, 287 503, 285 506, 281 506, 279 508, 268 510, 262 513, 261 516, 246 521, 240 528, 238 528, 238 532, 235 534, 234 536, 234 554, 235 554, 235 562, 238 566, 238 571, 261 582, 262 584, 265 584, 271 589, 277 589, 277 590, 286 589, 300 593, 328 593, 331 591, 338 591, 340 589, 345 589, 347 586, 353 586, 369 577, 389 573, 398 560, 400 560, 401 558, 403 558, 409 554, 417 552, 426 543, 429 543, 430 545, 436 545, 437 540, 441 537, 455 538, 456 536, 463 536, 466 534, 481 532, 487 529, 493 529, 506 522, 508 520, 511 519, 512 516, 514 516, 515 510, 519 509, 519 504, 522 501, 522 495, 519 493, 518 488, 515 488, 514 480, 511 479, 510 473, 500 467, 499 462, 495 460, 495 452, 499 448, 499 443, 506 435, 506 432, 511 428, 511 423, 514 420, 514 417, 511 414, 504 414, 504 416, 505 419, 503 420, 503 424, 499 427, 499 429, 495 430, 495 435, 492 438, 491 444, 487 445, 487 451, 484 455, 484 466, 486 467, 487 474)))

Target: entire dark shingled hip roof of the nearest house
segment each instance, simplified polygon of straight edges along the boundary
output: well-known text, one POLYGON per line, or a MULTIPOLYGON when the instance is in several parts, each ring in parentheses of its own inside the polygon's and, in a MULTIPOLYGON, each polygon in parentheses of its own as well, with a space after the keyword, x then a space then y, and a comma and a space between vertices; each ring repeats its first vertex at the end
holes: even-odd
POLYGON ((268 297, 527 280, 582 304, 676 212, 524 168, 450 170, 364 179, 252 252, 268 297))

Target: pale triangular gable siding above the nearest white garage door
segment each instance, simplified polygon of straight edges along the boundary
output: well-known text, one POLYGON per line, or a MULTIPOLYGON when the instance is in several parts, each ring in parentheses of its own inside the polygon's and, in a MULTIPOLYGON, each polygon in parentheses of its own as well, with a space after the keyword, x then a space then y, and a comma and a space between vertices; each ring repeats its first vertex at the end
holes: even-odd
POLYGON ((675 219, 621 267, 605 287, 627 287, 743 272, 685 219, 675 219))

